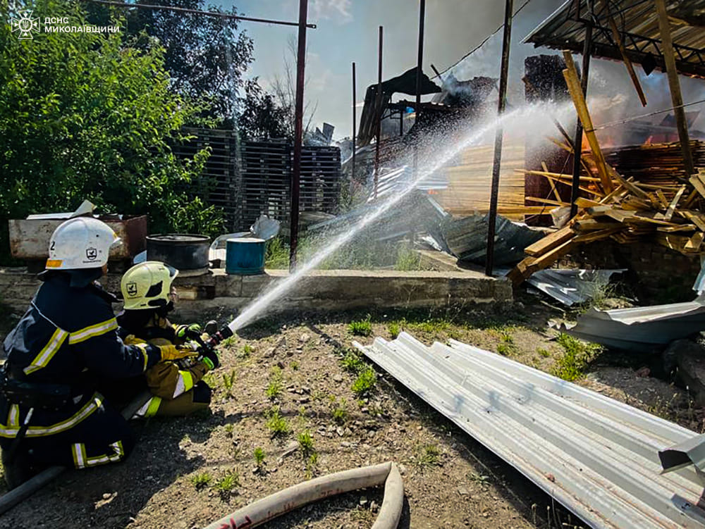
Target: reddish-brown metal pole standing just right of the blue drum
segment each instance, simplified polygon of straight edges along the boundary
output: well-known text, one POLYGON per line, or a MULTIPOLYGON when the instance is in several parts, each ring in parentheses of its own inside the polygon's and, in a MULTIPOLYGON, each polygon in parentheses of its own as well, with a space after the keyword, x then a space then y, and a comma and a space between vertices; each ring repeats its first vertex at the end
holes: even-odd
POLYGON ((304 68, 306 62, 306 18, 308 0, 299 0, 299 42, 296 54, 296 99, 294 107, 294 159, 291 168, 291 216, 289 270, 296 267, 299 242, 299 186, 301 180, 301 146, 304 134, 304 68))

